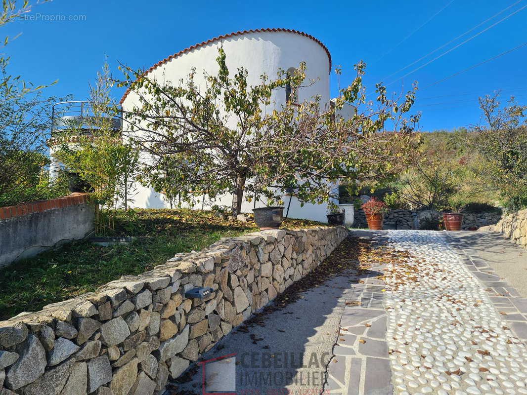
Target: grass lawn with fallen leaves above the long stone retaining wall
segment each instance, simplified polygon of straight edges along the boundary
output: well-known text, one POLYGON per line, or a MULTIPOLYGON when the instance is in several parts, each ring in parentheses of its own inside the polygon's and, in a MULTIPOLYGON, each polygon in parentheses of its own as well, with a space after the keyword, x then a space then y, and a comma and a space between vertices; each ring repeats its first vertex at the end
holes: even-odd
MULTIPOLYGON (((289 229, 318 225, 324 224, 291 219, 282 224, 289 229)), ((199 251, 222 237, 257 230, 253 222, 221 220, 210 211, 138 210, 132 218, 121 216, 113 233, 135 236, 130 244, 69 244, 2 269, 0 320, 94 291, 124 274, 140 274, 177 252, 199 251)))

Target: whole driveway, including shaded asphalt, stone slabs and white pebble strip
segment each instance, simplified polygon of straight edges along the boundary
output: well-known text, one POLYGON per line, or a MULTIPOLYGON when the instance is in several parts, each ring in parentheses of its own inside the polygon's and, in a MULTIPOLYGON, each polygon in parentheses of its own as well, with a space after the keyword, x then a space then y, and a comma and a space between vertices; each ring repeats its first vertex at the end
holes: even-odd
MULTIPOLYGON (((464 234, 355 235, 376 244, 367 270, 301 294, 204 356, 237 353, 237 393, 527 394, 527 298, 494 271, 499 246, 480 249, 483 259, 464 234)), ((169 393, 201 393, 201 379, 169 393)))

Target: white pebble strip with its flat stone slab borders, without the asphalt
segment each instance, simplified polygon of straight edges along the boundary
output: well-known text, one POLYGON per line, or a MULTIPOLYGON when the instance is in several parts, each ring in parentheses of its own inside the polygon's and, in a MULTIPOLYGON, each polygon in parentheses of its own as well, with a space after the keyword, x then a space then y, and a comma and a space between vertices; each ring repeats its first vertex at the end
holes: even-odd
POLYGON ((406 258, 376 263, 364 283, 352 284, 325 389, 527 394, 527 299, 446 232, 376 237, 406 258))

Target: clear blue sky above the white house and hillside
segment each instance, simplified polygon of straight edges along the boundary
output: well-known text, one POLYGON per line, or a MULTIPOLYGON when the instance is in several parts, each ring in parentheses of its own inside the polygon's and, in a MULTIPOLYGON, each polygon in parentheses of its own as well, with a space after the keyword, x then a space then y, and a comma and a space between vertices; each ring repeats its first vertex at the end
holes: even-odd
MULTIPOLYGON (((365 83, 372 91, 379 81, 401 91, 397 78, 441 55, 523 6, 521 0, 479 28, 395 75, 401 68, 463 34, 517 0, 435 0, 368 2, 228 2, 228 1, 66 1, 33 8, 38 20, 15 21, 3 34, 22 33, 4 48, 10 71, 35 84, 58 83, 46 95, 86 97, 104 62, 114 73, 118 61, 134 68, 159 60, 209 38, 250 28, 284 27, 304 31, 323 42, 333 63, 341 65, 341 85, 355 76, 353 65, 366 62, 365 83), (82 15, 84 21, 45 21, 54 15, 82 15)), ((495 55, 527 43, 527 7, 469 42, 404 78, 425 87, 495 55)), ((413 111, 421 111, 422 130, 469 126, 479 121, 477 97, 502 89, 527 103, 527 46, 425 87, 413 111)), ((309 65, 307 65, 309 67, 309 65)), ((122 90, 114 91, 120 98, 122 90)), ((332 77, 331 94, 337 94, 332 77)))

